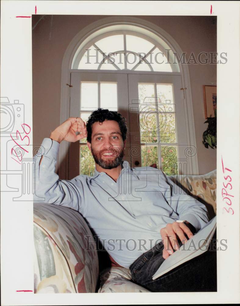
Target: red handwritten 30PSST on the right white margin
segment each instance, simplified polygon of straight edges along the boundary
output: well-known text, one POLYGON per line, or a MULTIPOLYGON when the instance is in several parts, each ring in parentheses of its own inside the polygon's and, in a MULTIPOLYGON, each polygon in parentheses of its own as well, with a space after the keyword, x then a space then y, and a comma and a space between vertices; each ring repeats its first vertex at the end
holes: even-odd
POLYGON ((232 205, 232 198, 234 198, 234 196, 231 194, 232 192, 229 192, 229 190, 232 190, 232 184, 230 183, 232 181, 232 178, 228 173, 226 173, 226 172, 232 172, 232 170, 224 167, 223 157, 222 157, 222 169, 223 169, 223 174, 225 174, 224 180, 226 181, 223 182, 224 188, 222 188, 222 198, 224 203, 227 204, 227 208, 223 207, 223 212, 227 211, 228 214, 231 212, 231 215, 233 215, 234 210, 232 209, 232 207, 229 207, 232 205))

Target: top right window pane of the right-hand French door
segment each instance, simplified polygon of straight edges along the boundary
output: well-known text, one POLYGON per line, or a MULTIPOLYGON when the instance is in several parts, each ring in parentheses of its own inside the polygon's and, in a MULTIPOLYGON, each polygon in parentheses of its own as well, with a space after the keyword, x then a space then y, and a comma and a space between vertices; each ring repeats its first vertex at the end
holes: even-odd
POLYGON ((167 112, 175 112, 173 99, 173 85, 172 84, 157 84, 158 103, 166 104, 167 112))

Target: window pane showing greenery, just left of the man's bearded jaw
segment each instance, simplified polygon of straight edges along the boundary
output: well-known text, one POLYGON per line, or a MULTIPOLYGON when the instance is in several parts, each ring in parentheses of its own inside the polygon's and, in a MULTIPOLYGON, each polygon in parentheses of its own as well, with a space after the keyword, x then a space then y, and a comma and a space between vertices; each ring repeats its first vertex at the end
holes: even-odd
POLYGON ((80 174, 94 175, 95 161, 87 146, 80 145, 80 174))

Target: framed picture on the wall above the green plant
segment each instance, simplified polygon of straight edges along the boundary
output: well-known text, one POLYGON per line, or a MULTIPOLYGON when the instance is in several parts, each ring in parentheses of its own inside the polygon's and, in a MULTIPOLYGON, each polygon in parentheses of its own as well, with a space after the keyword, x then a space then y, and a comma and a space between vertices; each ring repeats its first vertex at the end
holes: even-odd
POLYGON ((217 86, 203 85, 203 98, 205 118, 215 117, 214 110, 217 109, 217 86))

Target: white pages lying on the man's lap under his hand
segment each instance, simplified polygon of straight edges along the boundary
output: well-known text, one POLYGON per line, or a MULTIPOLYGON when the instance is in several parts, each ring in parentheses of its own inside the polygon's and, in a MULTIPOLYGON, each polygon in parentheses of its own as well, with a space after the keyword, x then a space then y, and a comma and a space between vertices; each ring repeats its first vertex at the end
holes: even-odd
POLYGON ((186 261, 206 252, 216 230, 216 226, 217 217, 214 217, 192 238, 182 244, 179 250, 168 256, 168 258, 163 261, 159 269, 152 276, 152 279, 154 280, 182 263, 185 263, 186 261))

